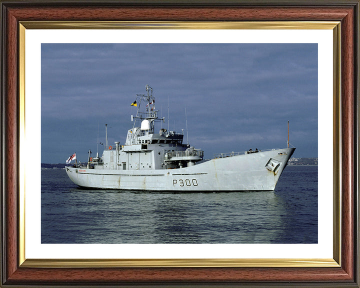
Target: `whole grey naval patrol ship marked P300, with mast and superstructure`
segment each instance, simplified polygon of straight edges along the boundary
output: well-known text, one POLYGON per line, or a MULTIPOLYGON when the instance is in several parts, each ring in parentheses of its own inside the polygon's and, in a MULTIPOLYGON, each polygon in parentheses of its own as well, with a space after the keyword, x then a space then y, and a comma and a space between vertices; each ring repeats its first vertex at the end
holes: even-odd
MULTIPOLYGON (((91 157, 86 164, 65 166, 70 179, 80 187, 129 189, 142 191, 258 191, 274 190, 294 147, 220 153, 203 160, 203 151, 182 143, 183 132, 165 128, 155 131, 159 118, 152 88, 136 94, 131 104, 133 126, 123 145, 105 144, 101 157, 91 157), (201 162, 199 162, 201 161, 201 162)), ((76 158, 72 154, 68 162, 76 158)))

